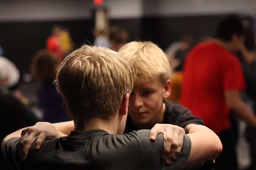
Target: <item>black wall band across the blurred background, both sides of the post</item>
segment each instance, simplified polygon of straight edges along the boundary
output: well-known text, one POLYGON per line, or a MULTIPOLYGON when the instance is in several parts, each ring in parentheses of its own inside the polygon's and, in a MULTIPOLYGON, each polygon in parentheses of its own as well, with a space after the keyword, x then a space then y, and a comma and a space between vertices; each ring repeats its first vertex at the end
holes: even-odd
MULTIPOLYGON (((153 41, 166 49, 185 34, 196 37, 214 36, 217 23, 224 17, 225 15, 143 17, 110 20, 110 24, 126 28, 131 41, 153 41)), ((17 65, 21 74, 29 72, 33 55, 45 48, 47 37, 55 25, 69 28, 76 48, 83 43, 93 43, 93 20, 0 23, 0 44, 4 49, 4 56, 17 65)))

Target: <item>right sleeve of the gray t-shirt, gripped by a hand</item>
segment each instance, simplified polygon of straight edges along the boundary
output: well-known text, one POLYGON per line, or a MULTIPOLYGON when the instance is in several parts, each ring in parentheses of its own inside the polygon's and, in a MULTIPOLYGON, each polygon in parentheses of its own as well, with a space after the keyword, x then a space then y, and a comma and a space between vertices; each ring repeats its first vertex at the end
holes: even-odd
POLYGON ((189 136, 185 135, 183 139, 183 146, 180 155, 170 165, 166 165, 165 161, 161 159, 163 150, 163 134, 159 133, 154 142, 149 140, 150 130, 138 130, 137 134, 140 140, 140 145, 143 152, 144 169, 164 169, 164 170, 183 170, 189 158, 191 150, 191 140, 189 136))

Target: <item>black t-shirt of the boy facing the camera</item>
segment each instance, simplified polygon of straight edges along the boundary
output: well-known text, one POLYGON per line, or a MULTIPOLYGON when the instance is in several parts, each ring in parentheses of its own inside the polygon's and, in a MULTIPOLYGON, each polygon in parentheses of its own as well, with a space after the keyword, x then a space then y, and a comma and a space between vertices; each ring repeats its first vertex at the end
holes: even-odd
MULTIPOLYGON (((164 112, 163 121, 161 122, 162 124, 177 125, 184 129, 189 124, 204 125, 202 119, 193 116, 191 111, 184 106, 175 104, 166 99, 164 100, 164 103, 166 105, 166 110, 164 112)), ((135 127, 131 117, 128 115, 124 133, 129 133, 133 130, 139 129, 135 127)))

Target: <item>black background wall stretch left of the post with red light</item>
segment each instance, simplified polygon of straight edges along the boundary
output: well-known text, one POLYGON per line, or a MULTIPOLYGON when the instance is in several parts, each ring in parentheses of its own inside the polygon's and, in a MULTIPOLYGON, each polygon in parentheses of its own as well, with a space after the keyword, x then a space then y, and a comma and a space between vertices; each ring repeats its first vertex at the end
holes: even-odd
POLYGON ((93 41, 90 20, 0 23, 0 44, 4 56, 17 65, 21 74, 29 72, 33 55, 45 48, 47 37, 55 25, 69 28, 76 48, 84 42, 93 41))

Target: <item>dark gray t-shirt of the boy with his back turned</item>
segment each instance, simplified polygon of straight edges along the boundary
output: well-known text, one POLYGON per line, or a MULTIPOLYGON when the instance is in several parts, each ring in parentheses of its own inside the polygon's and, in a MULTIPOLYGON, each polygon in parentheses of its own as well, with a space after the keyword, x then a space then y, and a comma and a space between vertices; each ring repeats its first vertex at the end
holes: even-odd
POLYGON ((189 136, 185 135, 177 160, 169 166, 160 159, 163 134, 154 142, 149 130, 114 135, 105 130, 72 131, 59 139, 47 140, 39 150, 34 145, 24 162, 19 161, 19 138, 7 141, 5 153, 12 169, 86 169, 86 170, 182 170, 191 150, 189 136))

